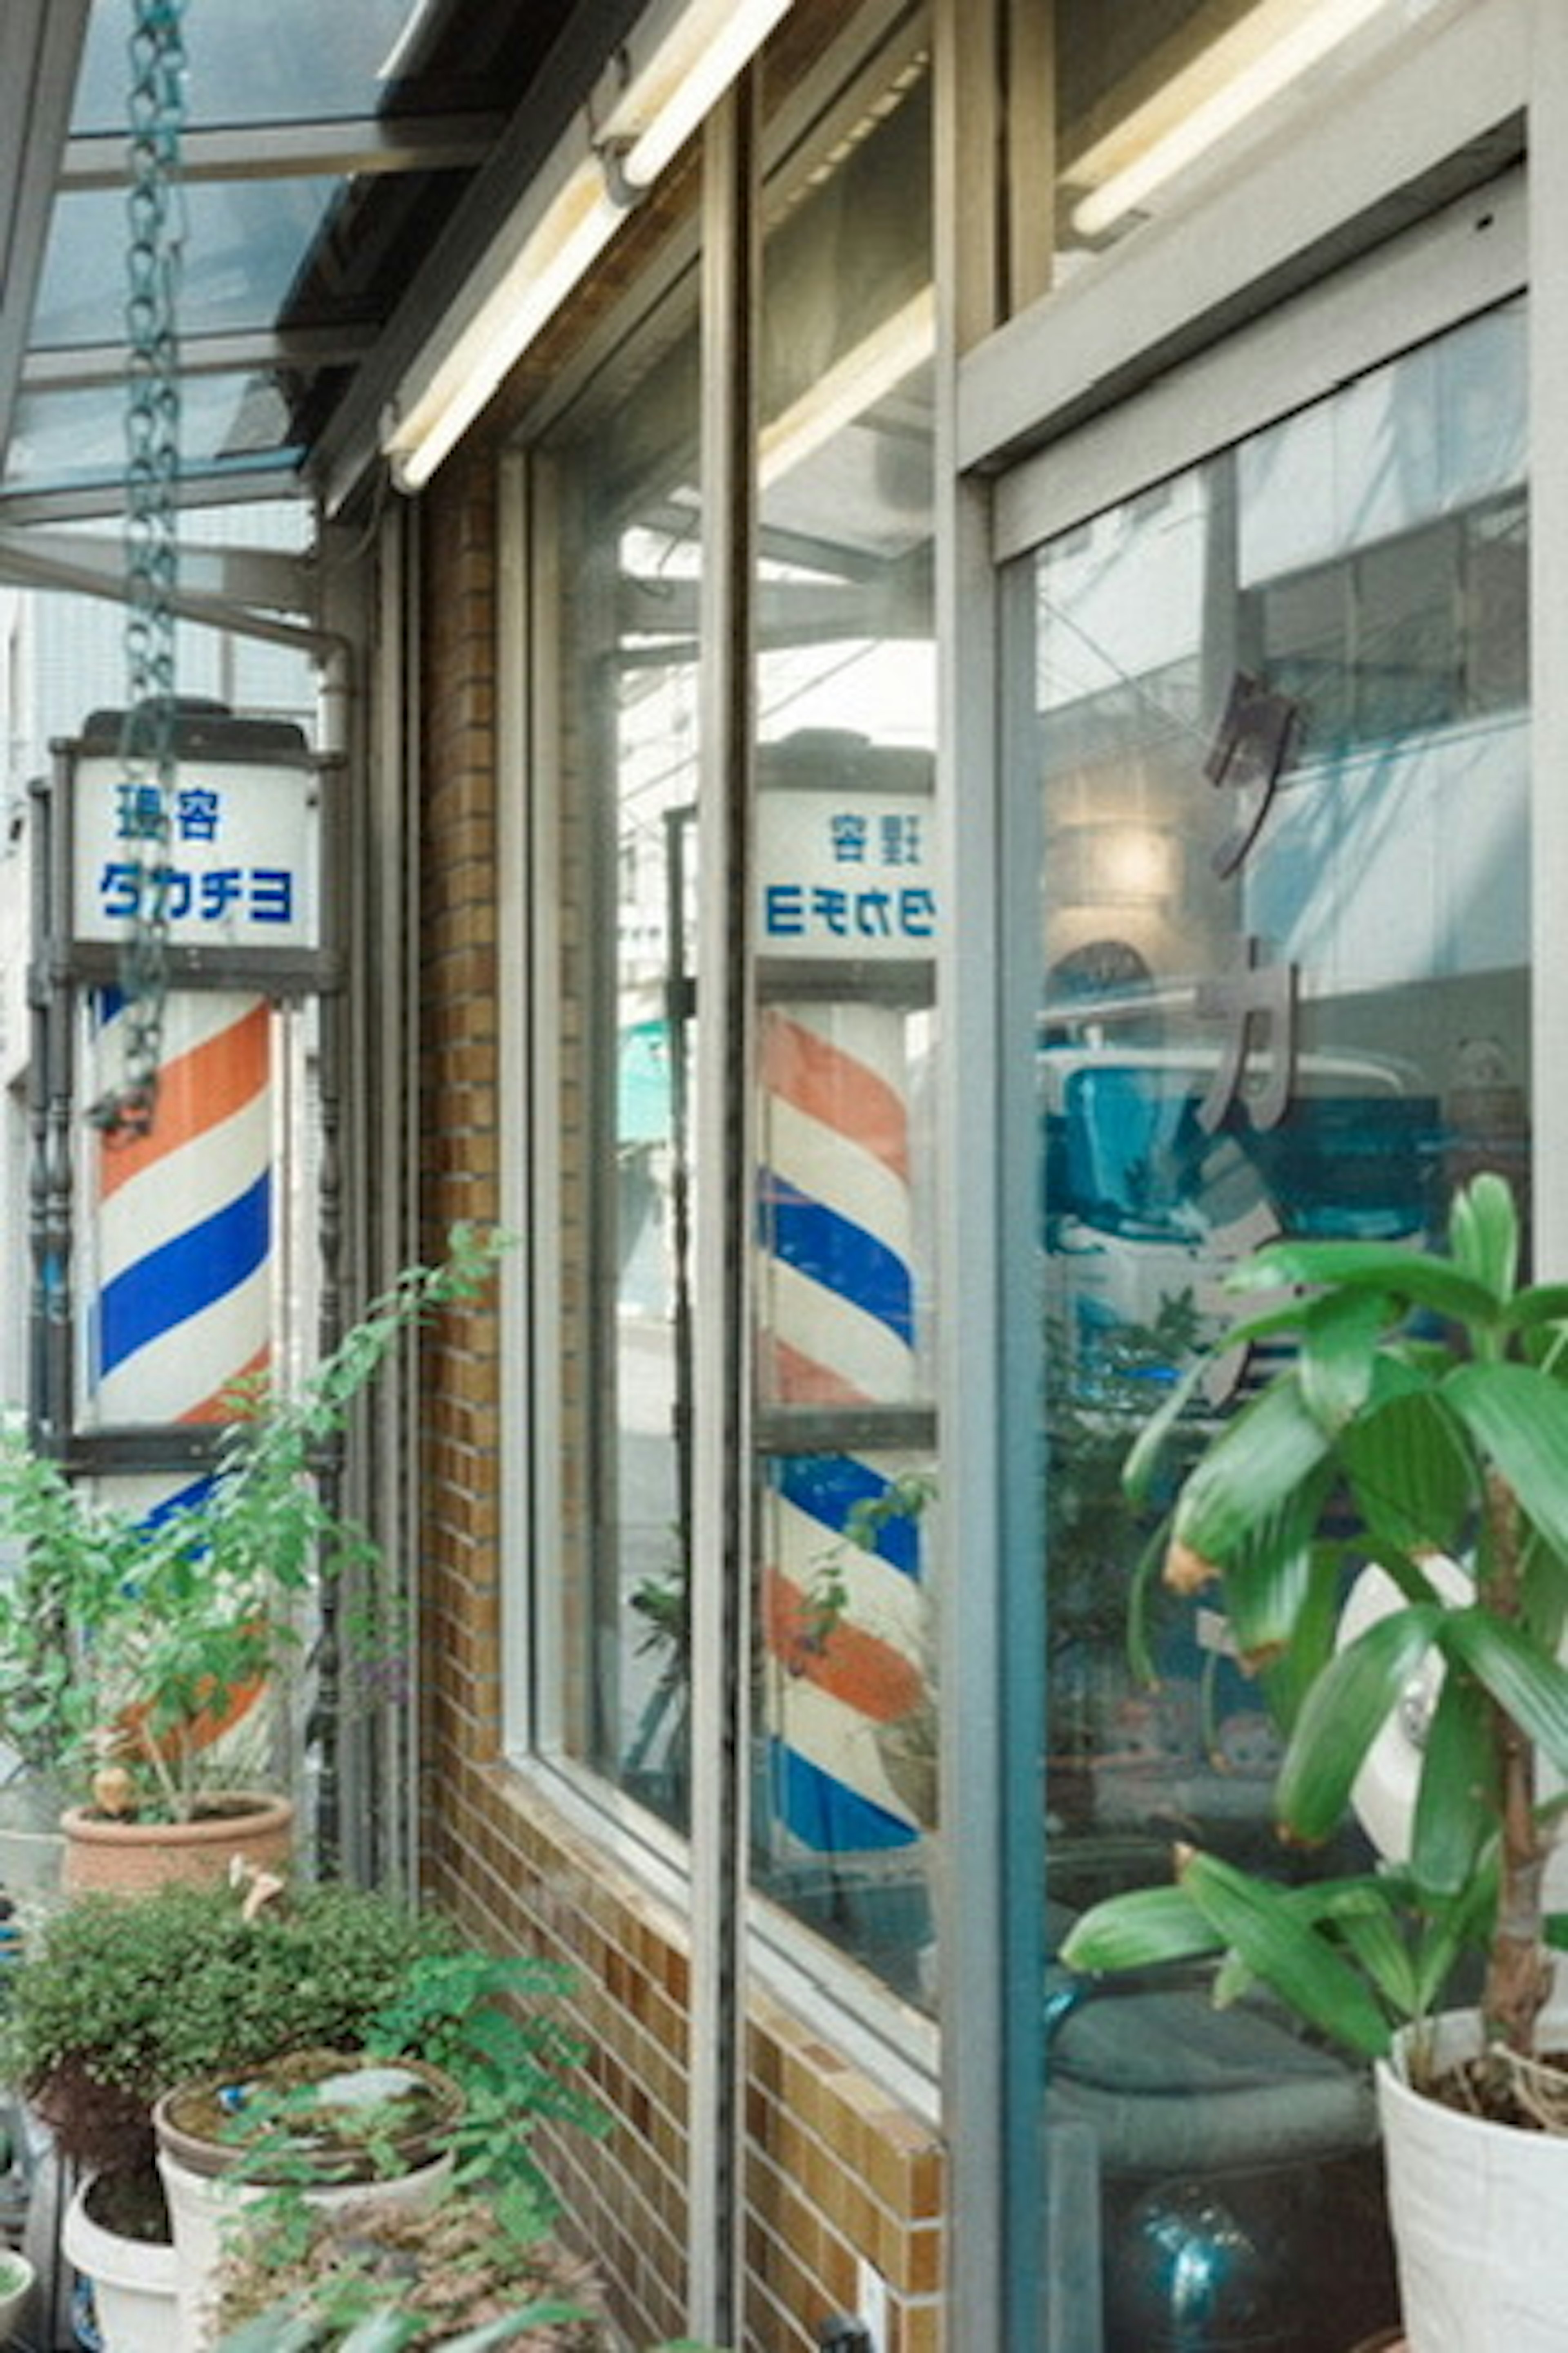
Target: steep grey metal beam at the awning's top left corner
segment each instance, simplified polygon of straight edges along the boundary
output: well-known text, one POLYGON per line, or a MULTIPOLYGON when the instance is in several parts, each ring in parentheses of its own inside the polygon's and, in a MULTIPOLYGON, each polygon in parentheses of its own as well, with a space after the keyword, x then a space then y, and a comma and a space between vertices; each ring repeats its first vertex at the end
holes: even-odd
POLYGON ((12 438, 89 0, 0 7, 0 452, 12 438))

